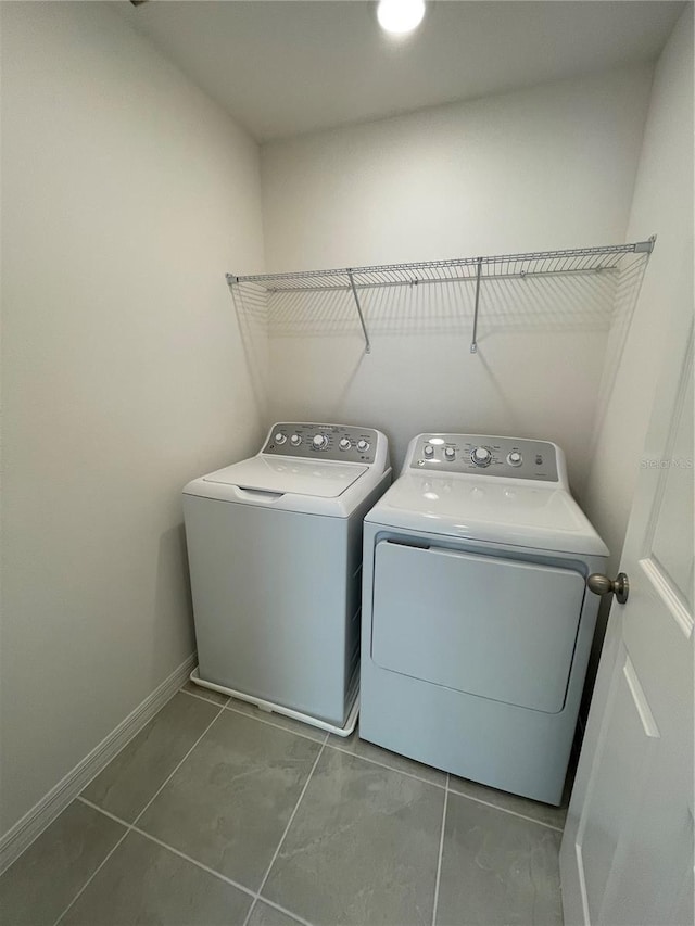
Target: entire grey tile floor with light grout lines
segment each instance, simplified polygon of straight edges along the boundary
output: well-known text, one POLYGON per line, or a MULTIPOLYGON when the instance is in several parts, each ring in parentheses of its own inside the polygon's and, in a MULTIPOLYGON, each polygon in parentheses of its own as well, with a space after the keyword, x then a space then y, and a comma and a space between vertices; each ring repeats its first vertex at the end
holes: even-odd
POLYGON ((549 926, 564 820, 187 684, 0 877, 0 922, 549 926))

